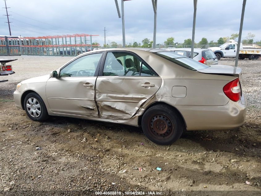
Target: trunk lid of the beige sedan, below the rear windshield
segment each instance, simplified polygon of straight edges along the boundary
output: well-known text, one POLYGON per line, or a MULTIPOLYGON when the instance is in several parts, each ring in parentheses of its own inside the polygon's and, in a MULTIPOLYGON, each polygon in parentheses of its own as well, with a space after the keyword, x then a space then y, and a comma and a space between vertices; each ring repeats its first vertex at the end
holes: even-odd
POLYGON ((236 76, 239 77, 240 82, 242 80, 242 69, 229 65, 211 65, 208 68, 198 70, 198 72, 225 76, 236 76))

